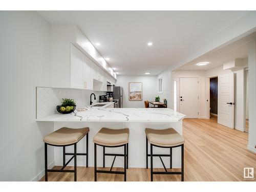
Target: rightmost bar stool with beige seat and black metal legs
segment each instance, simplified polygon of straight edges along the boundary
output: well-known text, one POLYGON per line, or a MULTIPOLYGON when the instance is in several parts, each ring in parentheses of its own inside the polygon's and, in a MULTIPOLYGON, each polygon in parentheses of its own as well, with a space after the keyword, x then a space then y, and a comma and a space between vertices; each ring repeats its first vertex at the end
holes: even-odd
POLYGON ((181 181, 184 181, 184 138, 176 132, 173 128, 165 130, 154 130, 154 129, 145 129, 146 133, 146 168, 148 168, 148 156, 151 160, 151 181, 153 181, 154 174, 163 174, 163 175, 181 175, 181 181), (150 142, 150 154, 148 154, 148 141, 150 142), (169 155, 153 154, 153 146, 169 148, 169 155), (168 172, 163 160, 161 157, 170 157, 170 168, 172 168, 172 148, 181 146, 181 172, 168 172), (153 157, 159 157, 161 163, 163 164, 165 172, 154 172, 153 171, 153 157))

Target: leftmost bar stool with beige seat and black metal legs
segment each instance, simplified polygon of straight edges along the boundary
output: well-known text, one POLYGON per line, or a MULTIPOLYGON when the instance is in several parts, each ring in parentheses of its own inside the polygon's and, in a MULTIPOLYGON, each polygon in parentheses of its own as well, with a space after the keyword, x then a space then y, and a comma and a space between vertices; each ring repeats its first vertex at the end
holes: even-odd
POLYGON ((74 181, 76 181, 76 156, 84 155, 86 156, 86 167, 88 167, 88 134, 89 128, 81 129, 71 129, 67 127, 62 127, 59 130, 45 136, 45 181, 48 181, 48 172, 65 172, 74 173, 74 181), (86 136, 86 153, 76 153, 76 143, 80 141, 84 136, 86 136), (47 145, 52 146, 62 146, 63 147, 63 166, 61 169, 48 169, 47 165, 47 145), (74 153, 66 153, 65 147, 74 145, 74 153), (70 160, 66 163, 66 155, 72 155, 70 160), (64 168, 70 163, 74 158, 74 170, 64 170, 64 168))

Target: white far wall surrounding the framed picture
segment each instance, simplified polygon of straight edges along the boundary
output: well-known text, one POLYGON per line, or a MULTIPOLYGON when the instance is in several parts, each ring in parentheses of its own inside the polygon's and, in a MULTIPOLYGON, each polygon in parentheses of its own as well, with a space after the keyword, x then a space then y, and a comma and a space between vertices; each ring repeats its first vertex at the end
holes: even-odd
POLYGON ((123 108, 144 108, 144 101, 154 101, 157 94, 157 76, 118 75, 116 86, 123 87, 123 108), (129 82, 142 82, 142 100, 129 100, 129 82))

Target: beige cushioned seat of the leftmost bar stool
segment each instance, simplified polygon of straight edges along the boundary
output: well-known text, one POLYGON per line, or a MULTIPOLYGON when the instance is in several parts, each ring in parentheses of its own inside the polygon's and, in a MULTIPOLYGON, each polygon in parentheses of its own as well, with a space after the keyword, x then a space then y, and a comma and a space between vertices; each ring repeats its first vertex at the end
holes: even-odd
POLYGON ((62 127, 59 130, 45 136, 44 142, 52 145, 69 145, 80 141, 89 131, 89 127, 81 129, 62 127))

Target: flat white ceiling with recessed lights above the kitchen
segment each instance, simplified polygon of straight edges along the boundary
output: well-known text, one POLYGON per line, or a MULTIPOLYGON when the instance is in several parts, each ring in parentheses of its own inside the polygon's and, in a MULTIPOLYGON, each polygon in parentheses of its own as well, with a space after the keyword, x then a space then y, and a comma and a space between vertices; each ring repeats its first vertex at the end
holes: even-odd
MULTIPOLYGON (((39 11, 51 24, 76 24, 119 75, 157 75, 247 11, 39 11), (147 42, 153 46, 148 47, 147 42)), ((245 56, 245 49, 236 53, 245 56)), ((216 61, 217 62, 217 61, 216 61)))

